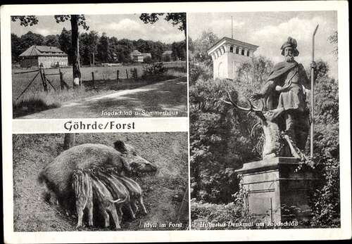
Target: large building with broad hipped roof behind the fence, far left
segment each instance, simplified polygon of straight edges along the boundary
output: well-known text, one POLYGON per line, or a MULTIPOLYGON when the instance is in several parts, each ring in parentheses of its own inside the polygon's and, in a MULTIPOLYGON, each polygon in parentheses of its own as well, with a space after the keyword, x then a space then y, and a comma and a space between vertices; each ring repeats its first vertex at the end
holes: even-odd
POLYGON ((30 46, 20 57, 21 67, 39 67, 41 64, 44 68, 68 66, 68 55, 56 46, 30 46))

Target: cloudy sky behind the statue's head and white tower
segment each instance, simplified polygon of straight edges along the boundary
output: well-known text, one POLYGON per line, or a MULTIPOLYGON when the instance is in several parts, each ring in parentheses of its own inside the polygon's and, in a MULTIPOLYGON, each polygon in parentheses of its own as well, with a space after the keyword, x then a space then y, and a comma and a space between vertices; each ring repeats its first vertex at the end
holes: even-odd
POLYGON ((300 52, 296 60, 305 68, 310 65, 312 34, 319 24, 315 35, 315 60, 327 61, 329 75, 337 78, 337 60, 327 40, 337 30, 336 11, 190 13, 187 19, 189 37, 197 39, 203 31, 209 30, 219 38, 231 37, 231 16, 234 39, 259 46, 254 54, 266 56, 274 63, 282 61, 280 48, 287 37, 296 39, 300 52))

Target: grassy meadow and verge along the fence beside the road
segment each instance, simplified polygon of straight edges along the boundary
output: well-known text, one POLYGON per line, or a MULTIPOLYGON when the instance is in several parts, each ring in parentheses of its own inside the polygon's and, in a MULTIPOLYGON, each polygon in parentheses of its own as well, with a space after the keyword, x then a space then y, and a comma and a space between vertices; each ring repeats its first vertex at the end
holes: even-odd
MULTIPOLYGON (((12 75, 12 94, 13 94, 13 117, 36 113, 41 110, 49 108, 58 108, 63 103, 69 101, 77 101, 81 98, 87 98, 100 94, 109 94, 120 89, 134 89, 139 86, 160 82, 165 79, 172 79, 172 77, 181 77, 186 75, 186 63, 184 61, 163 63, 167 72, 163 75, 142 77, 143 65, 129 65, 122 67, 82 67, 82 83, 83 87, 77 89, 61 90, 60 78, 58 75, 51 75, 58 73, 58 69, 46 69, 45 74, 47 78, 56 88, 56 91, 49 86, 49 92, 43 90, 42 81, 39 75, 34 79, 34 82, 29 86, 29 89, 20 96, 25 87, 33 79, 35 72, 25 74, 14 74, 15 72, 25 72, 27 70, 18 69, 13 70, 12 75), (130 70, 137 69, 138 77, 132 78, 130 70), (117 70, 120 70, 119 79, 117 82, 117 70), (129 75, 127 79, 126 70, 129 75), (94 86, 92 84, 92 72, 94 72, 94 86), (18 98, 20 96, 20 98, 18 98)), ((72 86, 72 68, 62 68, 63 79, 72 86)))

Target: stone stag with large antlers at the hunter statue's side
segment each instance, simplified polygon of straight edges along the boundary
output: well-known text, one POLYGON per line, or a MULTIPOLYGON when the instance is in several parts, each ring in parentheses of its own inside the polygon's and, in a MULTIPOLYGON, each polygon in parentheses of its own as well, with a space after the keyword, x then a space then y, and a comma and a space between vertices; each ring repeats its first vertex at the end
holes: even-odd
POLYGON ((273 110, 265 111, 265 105, 262 101, 262 107, 258 108, 253 105, 249 99, 249 108, 244 108, 237 103, 232 101, 231 95, 227 92, 229 101, 223 100, 223 102, 234 106, 237 110, 254 113, 259 119, 260 124, 263 127, 265 141, 263 143, 263 160, 275 157, 289 157, 302 158, 303 153, 294 145, 293 141, 289 138, 287 134, 280 131, 277 124, 277 118, 284 112, 283 108, 276 108, 273 110), (287 146, 289 148, 287 148, 287 146))

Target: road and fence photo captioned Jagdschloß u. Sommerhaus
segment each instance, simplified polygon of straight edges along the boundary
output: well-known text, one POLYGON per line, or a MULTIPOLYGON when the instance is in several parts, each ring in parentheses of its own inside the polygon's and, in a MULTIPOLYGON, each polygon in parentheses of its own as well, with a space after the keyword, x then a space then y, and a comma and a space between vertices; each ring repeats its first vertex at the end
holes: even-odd
POLYGON ((13 15, 13 118, 187 116, 186 13, 13 15))

